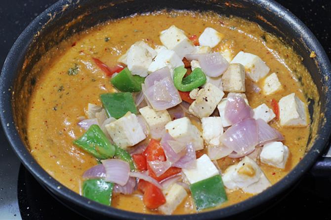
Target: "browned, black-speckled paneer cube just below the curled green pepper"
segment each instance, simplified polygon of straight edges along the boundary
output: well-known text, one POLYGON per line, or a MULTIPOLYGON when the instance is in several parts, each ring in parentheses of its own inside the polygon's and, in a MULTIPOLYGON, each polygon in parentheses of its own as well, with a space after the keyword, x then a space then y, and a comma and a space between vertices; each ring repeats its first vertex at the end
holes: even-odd
POLYGON ((199 90, 197 99, 189 107, 189 112, 198 118, 208 117, 213 113, 223 96, 222 90, 207 83, 205 88, 199 90))

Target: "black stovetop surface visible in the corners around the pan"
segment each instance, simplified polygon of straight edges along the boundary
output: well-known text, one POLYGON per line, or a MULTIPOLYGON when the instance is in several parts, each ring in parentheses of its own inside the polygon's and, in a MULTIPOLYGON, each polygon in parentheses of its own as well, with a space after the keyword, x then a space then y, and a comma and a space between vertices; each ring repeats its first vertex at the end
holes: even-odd
MULTIPOLYGON (((0 6, 0 67, 24 28, 56 0, 9 0, 0 6)), ((331 58, 331 0, 277 0, 317 36, 331 58)), ((306 174, 289 195, 255 220, 331 220, 331 175, 306 174)), ((275 201, 277 202, 277 201, 275 201)), ((20 164, 0 128, 0 220, 67 220, 84 218, 54 199, 20 164)))

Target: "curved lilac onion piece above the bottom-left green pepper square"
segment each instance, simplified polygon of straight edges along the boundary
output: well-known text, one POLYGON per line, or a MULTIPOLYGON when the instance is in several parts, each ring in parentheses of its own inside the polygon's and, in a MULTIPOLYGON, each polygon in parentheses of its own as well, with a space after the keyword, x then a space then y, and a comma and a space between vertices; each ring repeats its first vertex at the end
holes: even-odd
POLYGON ((130 173, 130 166, 122 159, 104 159, 101 160, 106 170, 105 181, 124 186, 130 173))

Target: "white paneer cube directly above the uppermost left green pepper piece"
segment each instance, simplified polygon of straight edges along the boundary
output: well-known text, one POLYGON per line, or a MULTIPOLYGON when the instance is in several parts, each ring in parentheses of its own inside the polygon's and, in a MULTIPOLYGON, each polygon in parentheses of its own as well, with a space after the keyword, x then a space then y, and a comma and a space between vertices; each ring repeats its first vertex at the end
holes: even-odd
POLYGON ((147 76, 147 70, 152 63, 152 60, 153 55, 149 52, 148 49, 141 45, 133 44, 127 52, 127 68, 133 75, 142 77, 147 76))

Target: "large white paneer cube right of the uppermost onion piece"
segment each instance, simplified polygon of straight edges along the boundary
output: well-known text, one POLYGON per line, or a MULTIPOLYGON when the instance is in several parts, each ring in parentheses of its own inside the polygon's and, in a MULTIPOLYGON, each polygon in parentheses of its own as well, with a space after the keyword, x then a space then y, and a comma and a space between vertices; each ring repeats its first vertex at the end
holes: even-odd
POLYGON ((243 51, 239 52, 231 63, 240 63, 245 66, 246 74, 254 82, 265 77, 270 68, 258 56, 243 51))

